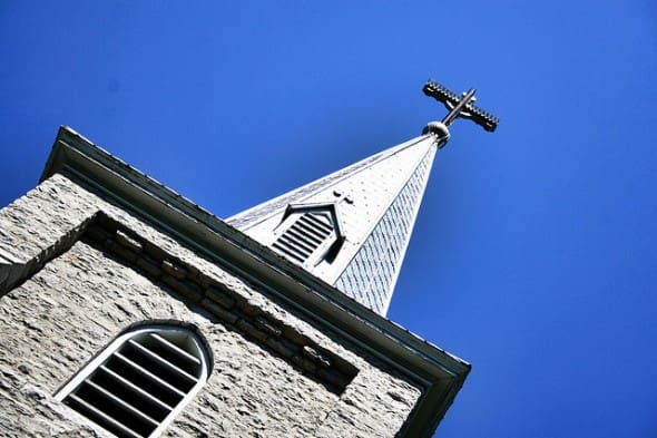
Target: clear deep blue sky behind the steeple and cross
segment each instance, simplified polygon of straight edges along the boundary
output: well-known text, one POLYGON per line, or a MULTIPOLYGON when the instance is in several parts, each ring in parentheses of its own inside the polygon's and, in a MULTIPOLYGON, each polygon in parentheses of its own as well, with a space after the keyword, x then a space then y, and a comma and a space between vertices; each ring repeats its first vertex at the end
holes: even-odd
POLYGON ((416 136, 390 318, 473 364, 439 437, 657 436, 657 4, 0 2, 0 205, 59 125, 228 217, 416 136))

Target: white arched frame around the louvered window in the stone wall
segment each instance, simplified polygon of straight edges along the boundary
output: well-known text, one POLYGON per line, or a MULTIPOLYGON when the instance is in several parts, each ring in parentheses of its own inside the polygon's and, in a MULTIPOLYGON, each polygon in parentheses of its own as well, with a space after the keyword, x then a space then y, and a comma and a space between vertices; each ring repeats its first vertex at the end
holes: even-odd
MULTIPOLYGON (((183 334, 187 337, 193 345, 195 347, 198 354, 196 358, 200 361, 199 364, 199 373, 197 376, 196 383, 187 390, 185 396, 177 402, 176 406, 169 411, 169 413, 159 421, 159 425, 148 435, 149 438, 158 437, 163 434, 163 431, 171 424, 171 421, 176 418, 176 416, 192 401, 192 399, 198 393, 200 388, 207 381, 209 373, 212 372, 212 351, 209 350, 207 342, 200 335, 200 333, 195 330, 195 328, 190 324, 183 324, 176 322, 165 322, 165 323, 140 323, 138 325, 134 325, 121 332, 117 338, 115 338, 107 347, 102 349, 94 359, 91 359, 80 371, 78 371, 57 393, 55 395, 55 399, 63 402, 65 399, 73 393, 87 379, 89 379, 99 368, 109 361, 111 356, 121 349, 122 345, 128 343, 131 339, 140 337, 143 334, 147 334, 150 332, 161 333, 168 332, 176 332, 177 334, 183 334)), ((72 408, 71 408, 72 409, 72 408)), ((98 425, 91 418, 88 418, 86 415, 79 412, 77 409, 73 409, 76 412, 81 415, 82 417, 87 418, 89 421, 98 425)), ((101 425, 98 425, 102 427, 101 425)))

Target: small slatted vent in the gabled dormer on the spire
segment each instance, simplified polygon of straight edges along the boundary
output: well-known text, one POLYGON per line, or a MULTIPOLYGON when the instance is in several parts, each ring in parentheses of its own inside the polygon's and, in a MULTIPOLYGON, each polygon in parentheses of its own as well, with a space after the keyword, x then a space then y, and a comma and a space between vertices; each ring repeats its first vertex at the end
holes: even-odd
POLYGON ((334 226, 329 213, 307 212, 298 215, 272 244, 290 259, 305 263, 317 250, 323 249, 334 236, 334 226))

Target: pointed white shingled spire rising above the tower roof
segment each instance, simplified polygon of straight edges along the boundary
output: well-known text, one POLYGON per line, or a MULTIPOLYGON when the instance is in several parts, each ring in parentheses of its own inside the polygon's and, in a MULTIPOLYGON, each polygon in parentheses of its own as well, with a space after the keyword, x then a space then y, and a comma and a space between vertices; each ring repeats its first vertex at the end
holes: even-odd
POLYGON ((422 135, 226 222, 385 314, 437 145, 422 135))

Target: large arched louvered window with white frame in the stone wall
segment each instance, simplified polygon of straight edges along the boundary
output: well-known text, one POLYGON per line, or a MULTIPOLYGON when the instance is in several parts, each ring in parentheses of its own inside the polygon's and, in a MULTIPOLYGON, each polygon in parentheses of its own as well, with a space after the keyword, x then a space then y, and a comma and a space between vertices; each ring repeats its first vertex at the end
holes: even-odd
POLYGON ((119 437, 156 437, 207 380, 209 351, 178 325, 128 330, 57 395, 119 437))

